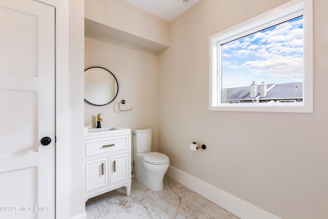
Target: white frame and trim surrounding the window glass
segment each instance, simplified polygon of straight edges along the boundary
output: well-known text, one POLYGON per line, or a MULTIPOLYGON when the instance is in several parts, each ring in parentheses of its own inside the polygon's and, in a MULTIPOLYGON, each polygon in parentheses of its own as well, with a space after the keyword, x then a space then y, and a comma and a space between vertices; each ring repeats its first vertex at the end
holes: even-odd
POLYGON ((209 110, 256 112, 313 112, 313 0, 293 0, 209 37, 209 110), (220 42, 248 34, 303 15, 303 101, 268 106, 265 103, 224 104, 220 95, 220 42))

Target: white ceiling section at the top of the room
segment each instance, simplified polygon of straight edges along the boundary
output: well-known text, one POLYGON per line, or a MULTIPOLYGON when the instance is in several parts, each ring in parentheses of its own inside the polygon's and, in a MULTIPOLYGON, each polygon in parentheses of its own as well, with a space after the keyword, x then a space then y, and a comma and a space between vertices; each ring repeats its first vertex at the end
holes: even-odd
POLYGON ((168 22, 172 22, 183 12, 201 0, 125 0, 126 2, 148 11, 168 22), (186 3, 187 2, 187 3, 186 3))

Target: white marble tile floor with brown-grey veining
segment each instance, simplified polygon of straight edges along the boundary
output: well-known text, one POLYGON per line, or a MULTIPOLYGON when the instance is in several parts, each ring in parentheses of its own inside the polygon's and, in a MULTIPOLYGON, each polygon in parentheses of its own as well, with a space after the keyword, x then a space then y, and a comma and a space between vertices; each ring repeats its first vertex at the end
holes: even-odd
POLYGON ((125 187, 90 198, 88 219, 238 219, 172 178, 164 177, 164 189, 152 191, 132 179, 131 195, 125 187))

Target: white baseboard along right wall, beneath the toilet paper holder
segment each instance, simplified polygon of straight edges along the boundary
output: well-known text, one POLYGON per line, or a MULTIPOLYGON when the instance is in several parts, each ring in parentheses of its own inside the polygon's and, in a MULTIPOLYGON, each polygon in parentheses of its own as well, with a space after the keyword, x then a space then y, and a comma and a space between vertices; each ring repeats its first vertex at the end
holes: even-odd
POLYGON ((175 167, 170 166, 166 174, 242 219, 280 219, 175 167))

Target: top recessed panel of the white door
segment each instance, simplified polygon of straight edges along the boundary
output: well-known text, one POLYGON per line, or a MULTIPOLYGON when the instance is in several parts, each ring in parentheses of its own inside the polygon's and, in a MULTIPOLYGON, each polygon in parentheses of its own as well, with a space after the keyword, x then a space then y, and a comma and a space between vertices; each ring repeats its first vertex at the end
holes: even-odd
POLYGON ((37 18, 24 11, 0 7, 1 26, 8 30, 2 31, 1 36, 2 42, 8 43, 1 45, 6 65, 1 65, 0 71, 37 76, 37 18))

